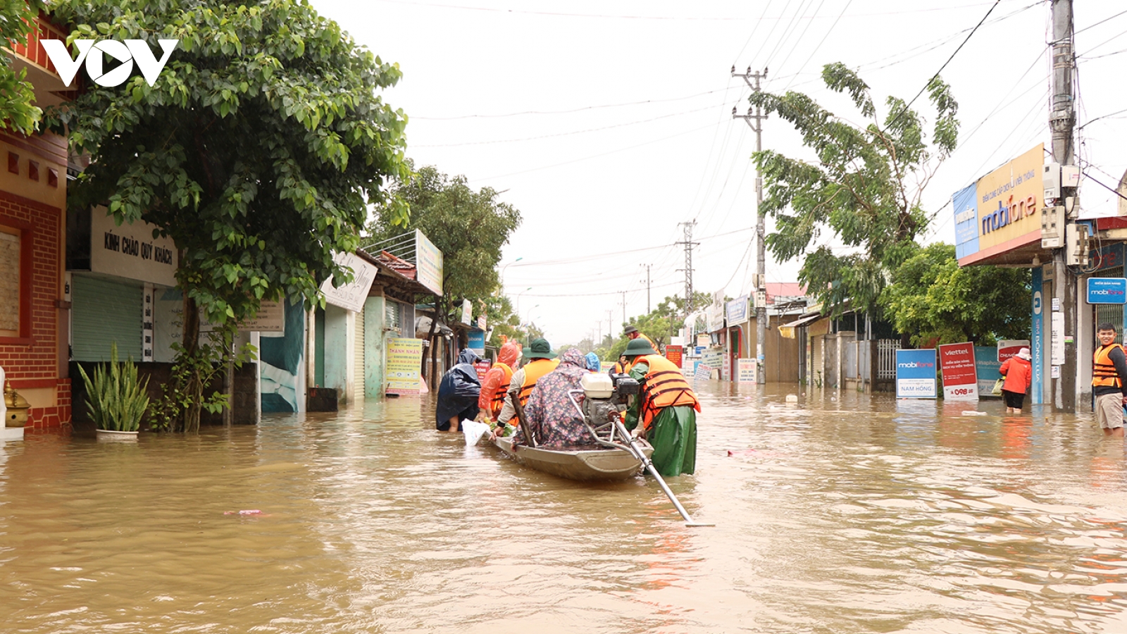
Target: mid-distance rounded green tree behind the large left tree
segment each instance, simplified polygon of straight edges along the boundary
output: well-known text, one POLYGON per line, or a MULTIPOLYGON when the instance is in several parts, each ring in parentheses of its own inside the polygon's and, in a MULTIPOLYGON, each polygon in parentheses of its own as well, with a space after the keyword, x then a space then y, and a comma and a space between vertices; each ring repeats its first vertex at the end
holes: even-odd
MULTIPOLYGON (((406 229, 420 229, 442 252, 443 297, 438 298, 442 318, 449 318, 462 299, 485 300, 492 296, 498 285, 500 248, 521 226, 521 212, 498 201, 498 193, 491 187, 474 191, 465 184, 464 176, 451 178, 433 166, 400 179, 393 192, 394 203, 402 201, 410 206, 406 229)), ((376 208, 367 230, 372 241, 403 232, 402 227, 396 226, 400 219, 397 204, 376 208)), ((508 315, 498 317, 506 319, 508 315)))

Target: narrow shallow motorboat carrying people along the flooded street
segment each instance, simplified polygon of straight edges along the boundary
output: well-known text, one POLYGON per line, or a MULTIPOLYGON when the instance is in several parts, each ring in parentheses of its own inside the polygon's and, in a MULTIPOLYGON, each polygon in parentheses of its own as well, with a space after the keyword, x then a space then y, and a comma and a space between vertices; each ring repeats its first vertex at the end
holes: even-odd
MULTIPOLYGON (((647 458, 654 452, 654 448, 645 440, 639 439, 635 442, 647 458)), ((514 451, 512 437, 497 438, 494 444, 517 464, 568 479, 627 479, 644 468, 642 461, 622 447, 549 449, 521 446, 514 451)))

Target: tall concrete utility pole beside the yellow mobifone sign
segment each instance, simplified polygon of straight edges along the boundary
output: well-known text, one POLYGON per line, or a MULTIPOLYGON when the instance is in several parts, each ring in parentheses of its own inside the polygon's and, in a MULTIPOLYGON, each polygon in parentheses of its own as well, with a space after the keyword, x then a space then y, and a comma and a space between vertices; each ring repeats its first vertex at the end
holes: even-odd
MULTIPOLYGON (((1072 76, 1075 70, 1073 50, 1072 0, 1053 0, 1053 109, 1049 113, 1049 129, 1053 131, 1053 160, 1061 165, 1074 165, 1076 157, 1073 148, 1073 127, 1076 124, 1076 112, 1073 105, 1074 95, 1072 76)), ((1075 201, 1075 190, 1062 190, 1061 201, 1072 197, 1075 201)), ((1046 204, 1049 204, 1046 201, 1046 204)), ((1058 203, 1059 204, 1059 203, 1058 203)), ((1075 219, 1072 209, 1065 204, 1067 222, 1075 219)), ((1061 306, 1064 315, 1064 341, 1053 341, 1050 345, 1064 346, 1064 366, 1061 376, 1051 379, 1053 405, 1057 411, 1076 411, 1076 343, 1070 337, 1076 335, 1076 276, 1068 270, 1065 259, 1067 240, 1064 248, 1053 252, 1053 297, 1061 306)), ((1051 377, 1051 373, 1049 375, 1051 377)))

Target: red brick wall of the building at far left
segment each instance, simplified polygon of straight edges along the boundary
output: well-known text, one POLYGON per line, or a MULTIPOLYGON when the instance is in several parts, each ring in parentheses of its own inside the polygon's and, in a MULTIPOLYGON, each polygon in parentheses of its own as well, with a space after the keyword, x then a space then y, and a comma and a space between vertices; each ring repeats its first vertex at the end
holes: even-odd
MULTIPOLYGON (((59 378, 59 294, 62 210, 0 191, 0 224, 30 231, 21 249, 30 245, 30 276, 24 278, 20 294, 30 297, 29 337, 0 337, 0 367, 16 389, 54 388, 55 405, 29 412, 30 426, 57 426, 70 422, 70 381, 59 378), (65 395, 66 403, 61 398, 65 395)), ((27 262, 24 258, 24 262, 27 262)), ((6 274, 9 272, 0 272, 6 274)), ((24 325, 20 324, 21 331, 24 325)), ((23 333, 21 333, 23 334, 23 333)))

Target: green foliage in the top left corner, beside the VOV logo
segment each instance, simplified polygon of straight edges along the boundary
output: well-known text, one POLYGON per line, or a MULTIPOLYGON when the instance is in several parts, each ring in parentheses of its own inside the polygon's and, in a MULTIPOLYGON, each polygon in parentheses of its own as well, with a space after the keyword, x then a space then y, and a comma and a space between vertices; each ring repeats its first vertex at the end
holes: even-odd
MULTIPOLYGON (((5 0, 0 2, 0 41, 9 51, 15 44, 27 44, 30 25, 43 9, 39 0, 5 0)), ((34 134, 43 111, 35 105, 35 91, 25 79, 27 69, 18 73, 9 55, 0 55, 0 121, 3 127, 20 134, 34 134)))

